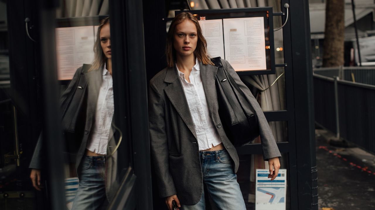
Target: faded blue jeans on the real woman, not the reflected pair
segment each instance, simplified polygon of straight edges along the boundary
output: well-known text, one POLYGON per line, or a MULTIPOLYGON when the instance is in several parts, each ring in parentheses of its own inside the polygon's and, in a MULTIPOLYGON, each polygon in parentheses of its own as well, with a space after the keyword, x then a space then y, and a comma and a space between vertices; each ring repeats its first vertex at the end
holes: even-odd
MULTIPOLYGON (((199 151, 203 183, 217 209, 246 210, 237 175, 233 171, 233 161, 226 149, 199 151)), ((193 205, 181 205, 181 210, 204 210, 204 191, 201 200, 193 205)))

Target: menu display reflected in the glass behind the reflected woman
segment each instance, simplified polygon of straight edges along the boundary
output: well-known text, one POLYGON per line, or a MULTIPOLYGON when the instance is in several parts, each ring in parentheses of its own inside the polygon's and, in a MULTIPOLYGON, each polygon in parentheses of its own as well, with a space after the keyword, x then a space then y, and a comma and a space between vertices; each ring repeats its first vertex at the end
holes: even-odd
POLYGON ((71 80, 79 67, 93 62, 98 25, 106 17, 57 19, 55 36, 58 80, 71 80))

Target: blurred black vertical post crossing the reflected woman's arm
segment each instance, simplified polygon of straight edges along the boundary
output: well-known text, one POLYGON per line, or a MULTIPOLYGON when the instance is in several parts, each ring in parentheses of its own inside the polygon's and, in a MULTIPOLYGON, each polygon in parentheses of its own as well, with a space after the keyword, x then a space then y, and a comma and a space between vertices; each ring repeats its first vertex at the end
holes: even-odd
POLYGON ((60 125, 55 49, 55 17, 58 0, 39 1, 40 64, 43 92, 43 149, 49 192, 49 209, 65 210, 63 142, 60 125))

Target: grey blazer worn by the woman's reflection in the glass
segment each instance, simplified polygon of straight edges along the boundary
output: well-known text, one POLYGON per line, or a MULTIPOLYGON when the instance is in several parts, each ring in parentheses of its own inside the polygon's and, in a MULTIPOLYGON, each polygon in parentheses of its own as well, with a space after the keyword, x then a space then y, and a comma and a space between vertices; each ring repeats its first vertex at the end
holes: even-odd
MULTIPOLYGON (((80 67, 82 68, 82 67, 80 67)), ((79 69, 80 69, 79 68, 79 69)), ((82 157, 85 153, 87 141, 89 139, 92 126, 95 120, 95 112, 96 112, 96 104, 98 101, 99 96, 99 89, 102 85, 102 71, 101 70, 93 70, 87 72, 85 74, 87 84, 88 84, 88 96, 87 96, 87 114, 86 114, 86 123, 85 123, 85 130, 83 139, 80 145, 80 148, 77 152, 75 169, 77 172, 78 177, 80 177, 81 171, 78 170, 81 164, 82 157)), ((72 88, 74 88, 74 84, 78 79, 78 70, 74 74, 71 82, 69 83, 68 87, 63 92, 62 96, 60 97, 60 101, 63 101, 66 97, 68 97, 68 93, 72 88)), ((110 136, 108 138, 108 146, 107 146, 107 156, 113 152, 115 148, 116 142, 114 138, 114 120, 112 121, 112 126, 110 129, 110 136)), ((33 169, 42 169, 42 158, 43 158, 43 151, 42 151, 42 135, 39 136, 36 148, 34 150, 33 157, 31 158, 30 168, 33 169)), ((111 201, 114 197, 115 192, 118 189, 118 177, 117 177, 117 151, 113 156, 107 158, 107 170, 106 170, 106 193, 107 198, 111 201)))

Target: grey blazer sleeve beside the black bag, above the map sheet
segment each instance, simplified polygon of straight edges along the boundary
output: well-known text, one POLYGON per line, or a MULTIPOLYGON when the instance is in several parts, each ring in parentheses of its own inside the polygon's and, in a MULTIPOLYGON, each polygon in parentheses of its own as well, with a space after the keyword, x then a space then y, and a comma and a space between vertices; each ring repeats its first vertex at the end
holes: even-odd
POLYGON ((229 62, 224 59, 222 59, 221 62, 223 63, 225 69, 229 72, 229 75, 231 75, 234 81, 236 81, 236 83, 244 93, 246 99, 249 101, 251 106, 254 108, 255 114, 257 114, 259 123, 259 133, 263 150, 263 159, 268 160, 274 157, 281 157, 279 148, 276 145, 275 138, 272 135, 270 126, 267 122, 266 117, 264 117, 264 113, 260 108, 258 101, 254 98, 249 88, 241 81, 239 75, 236 73, 236 71, 234 71, 233 67, 229 64, 229 62))

